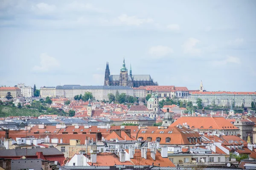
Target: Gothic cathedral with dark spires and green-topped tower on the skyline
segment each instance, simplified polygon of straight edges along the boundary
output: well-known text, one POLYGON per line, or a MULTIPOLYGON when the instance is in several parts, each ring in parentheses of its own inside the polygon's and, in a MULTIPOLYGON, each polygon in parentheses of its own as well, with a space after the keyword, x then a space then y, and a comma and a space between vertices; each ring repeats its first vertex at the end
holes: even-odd
POLYGON ((120 69, 120 75, 110 75, 109 65, 107 62, 104 85, 140 87, 158 84, 151 79, 150 75, 132 75, 131 68, 130 74, 128 75, 128 69, 125 67, 124 59, 122 68, 120 69))

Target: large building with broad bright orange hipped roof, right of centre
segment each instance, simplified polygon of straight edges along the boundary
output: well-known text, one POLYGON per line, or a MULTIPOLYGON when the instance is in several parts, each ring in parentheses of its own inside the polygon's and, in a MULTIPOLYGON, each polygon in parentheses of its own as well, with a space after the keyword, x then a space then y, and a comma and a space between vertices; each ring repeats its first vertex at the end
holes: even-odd
POLYGON ((239 134, 239 128, 231 124, 223 117, 183 116, 177 119, 171 126, 187 124, 191 129, 199 133, 224 133, 226 135, 239 134))

